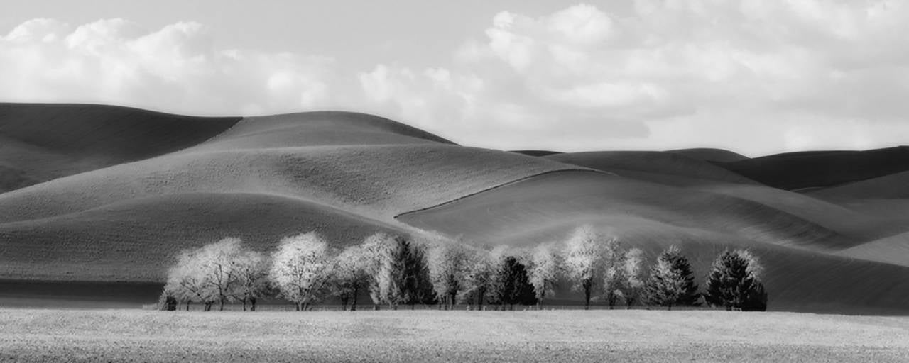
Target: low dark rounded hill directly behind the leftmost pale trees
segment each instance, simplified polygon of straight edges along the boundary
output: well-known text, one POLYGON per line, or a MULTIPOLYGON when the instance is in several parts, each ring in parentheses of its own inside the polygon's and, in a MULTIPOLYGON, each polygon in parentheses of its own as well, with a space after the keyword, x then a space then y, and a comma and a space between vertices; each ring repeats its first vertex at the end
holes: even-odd
POLYGON ((179 250, 240 237, 255 250, 318 231, 341 246, 375 231, 407 233, 311 201, 268 194, 169 194, 0 224, 5 279, 161 281, 179 250))

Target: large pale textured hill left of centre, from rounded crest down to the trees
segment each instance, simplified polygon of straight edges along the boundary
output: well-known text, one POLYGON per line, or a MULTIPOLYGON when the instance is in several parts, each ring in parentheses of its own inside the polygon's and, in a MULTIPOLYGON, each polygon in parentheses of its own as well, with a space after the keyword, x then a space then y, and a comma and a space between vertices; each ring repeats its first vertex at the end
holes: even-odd
POLYGON ((0 194, 0 278, 159 281, 177 250, 227 235, 267 250, 310 230, 337 245, 407 233, 396 214, 577 169, 363 113, 247 118, 182 150, 0 194))

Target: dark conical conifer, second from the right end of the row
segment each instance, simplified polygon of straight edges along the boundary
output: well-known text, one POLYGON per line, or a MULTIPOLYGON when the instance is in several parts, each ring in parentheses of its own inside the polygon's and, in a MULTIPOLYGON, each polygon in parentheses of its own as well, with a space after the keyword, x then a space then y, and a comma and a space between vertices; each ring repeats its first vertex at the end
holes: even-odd
POLYGON ((656 258, 645 289, 651 305, 672 309, 673 306, 699 304, 700 294, 694 284, 691 264, 676 246, 669 246, 656 258))

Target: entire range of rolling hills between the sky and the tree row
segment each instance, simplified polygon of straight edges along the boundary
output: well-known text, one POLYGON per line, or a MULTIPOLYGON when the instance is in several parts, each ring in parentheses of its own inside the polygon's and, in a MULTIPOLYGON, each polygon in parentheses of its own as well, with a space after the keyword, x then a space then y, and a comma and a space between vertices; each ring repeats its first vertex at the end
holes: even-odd
POLYGON ((909 170, 903 154, 501 152, 365 113, 3 103, 0 282, 149 290, 178 250, 225 236, 270 250, 304 231, 340 247, 432 230, 527 247, 590 223, 651 257, 679 244, 699 275, 719 251, 750 248, 767 265, 771 309, 905 311, 909 267, 896 259, 909 218, 886 212, 899 200, 790 191, 894 183, 909 170))

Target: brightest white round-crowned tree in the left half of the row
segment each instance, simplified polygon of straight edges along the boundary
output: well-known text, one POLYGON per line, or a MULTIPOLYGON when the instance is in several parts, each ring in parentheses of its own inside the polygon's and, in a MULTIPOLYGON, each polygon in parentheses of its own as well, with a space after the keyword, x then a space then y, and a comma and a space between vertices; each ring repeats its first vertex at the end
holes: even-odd
POLYGON ((294 302, 300 311, 319 298, 334 267, 328 243, 315 232, 308 232, 280 241, 272 254, 269 276, 281 296, 294 302))

